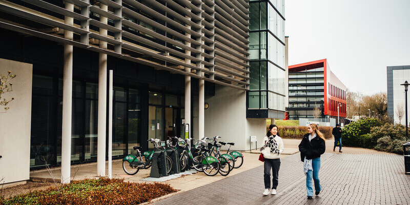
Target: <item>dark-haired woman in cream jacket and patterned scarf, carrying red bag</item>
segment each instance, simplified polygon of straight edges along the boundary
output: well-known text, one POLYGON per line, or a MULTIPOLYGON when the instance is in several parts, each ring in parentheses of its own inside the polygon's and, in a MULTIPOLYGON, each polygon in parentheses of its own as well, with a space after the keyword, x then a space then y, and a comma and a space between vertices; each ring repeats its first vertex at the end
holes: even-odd
POLYGON ((278 127, 270 125, 268 133, 263 139, 264 145, 260 148, 262 151, 263 161, 263 180, 265 183, 264 196, 269 194, 275 195, 278 187, 278 173, 280 167, 279 155, 283 152, 283 141, 278 136, 278 127), (272 169, 272 190, 271 190, 271 169, 272 169))

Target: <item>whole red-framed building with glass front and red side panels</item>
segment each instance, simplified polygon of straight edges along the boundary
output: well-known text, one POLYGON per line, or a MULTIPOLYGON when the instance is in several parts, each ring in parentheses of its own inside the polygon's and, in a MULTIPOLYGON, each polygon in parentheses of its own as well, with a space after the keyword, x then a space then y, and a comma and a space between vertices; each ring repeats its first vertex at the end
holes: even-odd
POLYGON ((330 70, 326 59, 289 66, 289 119, 313 118, 317 107, 321 118, 337 118, 339 111, 344 121, 346 86, 330 70))

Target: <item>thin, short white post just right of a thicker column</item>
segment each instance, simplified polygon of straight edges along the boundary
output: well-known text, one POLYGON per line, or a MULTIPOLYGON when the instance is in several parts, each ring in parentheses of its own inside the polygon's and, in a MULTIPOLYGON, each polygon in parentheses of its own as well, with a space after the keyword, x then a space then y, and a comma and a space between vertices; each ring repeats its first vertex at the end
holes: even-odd
POLYGON ((112 179, 112 94, 113 72, 110 70, 110 88, 108 89, 108 178, 112 179))

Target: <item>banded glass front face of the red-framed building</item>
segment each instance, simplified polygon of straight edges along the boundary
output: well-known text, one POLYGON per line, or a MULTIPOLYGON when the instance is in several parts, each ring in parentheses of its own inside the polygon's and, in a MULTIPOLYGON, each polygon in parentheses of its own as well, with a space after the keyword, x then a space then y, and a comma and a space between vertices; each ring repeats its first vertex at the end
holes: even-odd
POLYGON ((289 119, 314 118, 315 108, 324 111, 323 67, 289 72, 289 119))

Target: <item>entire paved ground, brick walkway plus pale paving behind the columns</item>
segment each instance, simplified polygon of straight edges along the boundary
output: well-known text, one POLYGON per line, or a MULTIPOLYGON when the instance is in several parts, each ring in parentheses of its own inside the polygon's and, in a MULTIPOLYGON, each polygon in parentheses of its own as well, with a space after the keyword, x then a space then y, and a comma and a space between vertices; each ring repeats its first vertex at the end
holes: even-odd
MULTIPOLYGON (((326 152, 321 156, 320 180, 322 192, 313 200, 306 198, 303 162, 297 147, 300 139, 283 139, 285 154, 281 156, 277 195, 262 196, 263 163, 256 154, 243 153, 244 163, 227 177, 190 174, 167 180, 180 190, 159 199, 153 204, 410 204, 410 175, 404 174, 402 155, 378 152, 362 148, 344 148, 333 152, 333 139, 326 140, 326 152)), ((57 181, 60 170, 33 171, 34 180, 57 181), (53 175, 51 177, 50 175, 53 175)), ((75 180, 94 178, 96 163, 72 166, 75 180)), ((150 170, 140 170, 127 175, 121 160, 113 162, 113 177, 131 182, 149 177, 150 170)))

